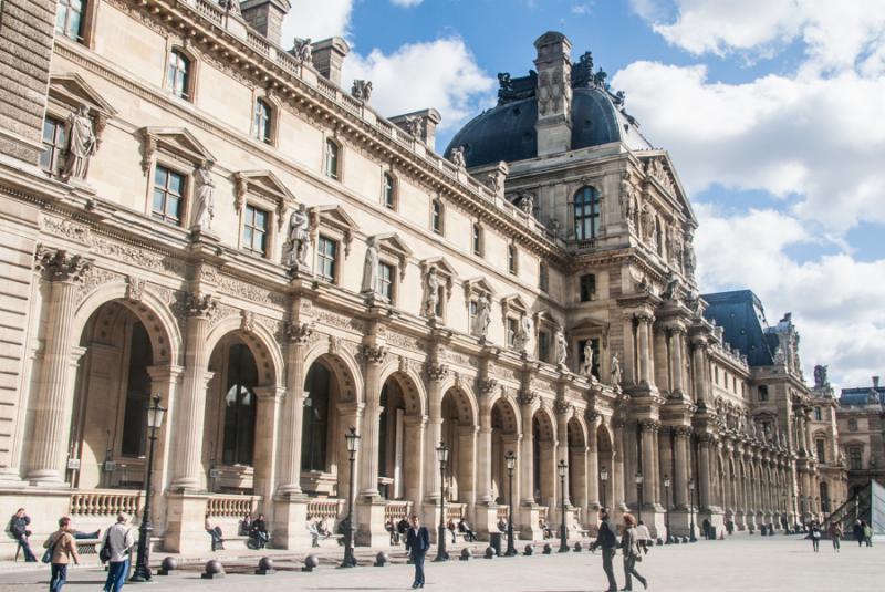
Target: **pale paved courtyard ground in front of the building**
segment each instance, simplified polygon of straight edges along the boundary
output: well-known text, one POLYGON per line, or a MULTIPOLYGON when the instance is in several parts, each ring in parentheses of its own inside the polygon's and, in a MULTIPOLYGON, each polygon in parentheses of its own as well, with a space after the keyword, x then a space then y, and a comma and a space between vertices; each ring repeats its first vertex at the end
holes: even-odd
MULTIPOLYGON (((477 548, 479 550, 479 548, 477 548)), ((367 554, 361 558, 367 559, 367 554)), ((834 590, 875 590, 882 585, 885 544, 858 549, 846 542, 842 552, 833 553, 829 541, 821 552, 811 550, 811 542, 795 537, 760 538, 736 536, 730 540, 693 546, 657 547, 638 564, 654 591, 763 591, 795 590, 802 592, 834 590)), ((231 560, 232 561, 232 560, 231 560)), ((257 559, 256 559, 257 561, 257 559)), ((387 568, 361 567, 335 569, 331 562, 313 573, 294 571, 294 563, 281 563, 274 575, 259 577, 247 565, 231 565, 222 580, 200 580, 199 570, 185 570, 167 578, 155 578, 154 592, 183 590, 259 591, 268 586, 296 590, 406 590, 412 583, 412 567, 403 563, 402 553, 387 568)), ((605 590, 598 553, 552 554, 493 560, 473 559, 428 563, 427 585, 431 591, 602 591, 605 590)), ((621 557, 616 560, 621 565, 621 557)), ((2 570, 3 568, 0 568, 2 570)), ((0 590, 45 590, 48 570, 0 571, 0 590)), ((617 572, 618 584, 623 577, 617 572)), ((97 590, 103 572, 95 568, 71 571, 66 590, 97 590)), ((133 584, 134 586, 135 584, 133 584)), ((638 583, 634 589, 642 590, 638 583)))

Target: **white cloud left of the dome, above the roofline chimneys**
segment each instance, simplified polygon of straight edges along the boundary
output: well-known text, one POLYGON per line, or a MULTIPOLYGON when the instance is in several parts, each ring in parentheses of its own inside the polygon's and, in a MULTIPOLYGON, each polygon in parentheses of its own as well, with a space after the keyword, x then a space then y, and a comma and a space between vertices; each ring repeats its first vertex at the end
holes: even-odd
POLYGON ((437 108, 441 129, 473 114, 478 101, 494 86, 459 38, 410 43, 391 54, 377 49, 366 56, 351 54, 344 62, 344 79, 347 85, 354 79, 371 80, 372 106, 386 116, 437 108))

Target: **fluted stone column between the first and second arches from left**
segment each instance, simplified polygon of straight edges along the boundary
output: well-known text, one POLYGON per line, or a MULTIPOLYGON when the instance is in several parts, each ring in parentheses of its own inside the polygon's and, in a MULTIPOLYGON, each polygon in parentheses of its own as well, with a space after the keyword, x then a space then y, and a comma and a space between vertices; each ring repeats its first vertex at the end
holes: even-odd
POLYGON ((202 482, 202 428, 210 353, 206 351, 206 336, 216 307, 217 302, 208 294, 187 297, 185 377, 176 408, 174 454, 177 463, 171 484, 178 490, 198 490, 202 482))

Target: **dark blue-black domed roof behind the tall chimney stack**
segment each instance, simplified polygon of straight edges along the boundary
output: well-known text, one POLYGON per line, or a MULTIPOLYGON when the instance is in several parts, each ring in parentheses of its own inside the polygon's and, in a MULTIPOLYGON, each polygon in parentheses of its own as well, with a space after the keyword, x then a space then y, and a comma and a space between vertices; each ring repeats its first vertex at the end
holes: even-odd
MULTIPOLYGON (((533 93, 532 93, 533 94, 533 93)), ((624 142, 634 149, 650 149, 632 117, 618 110, 603 86, 572 91, 572 149, 624 142)), ((455 134, 448 147, 462 146, 468 167, 538 156, 538 100, 534 96, 501 102, 473 117, 455 134)))

